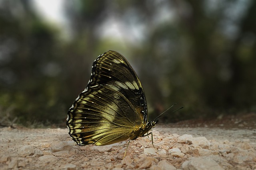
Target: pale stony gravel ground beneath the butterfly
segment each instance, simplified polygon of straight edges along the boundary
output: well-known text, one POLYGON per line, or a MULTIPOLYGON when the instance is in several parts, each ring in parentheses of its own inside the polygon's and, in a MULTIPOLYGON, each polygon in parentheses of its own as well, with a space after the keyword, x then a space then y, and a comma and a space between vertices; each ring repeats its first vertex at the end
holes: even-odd
POLYGON ((255 170, 256 114, 157 124, 151 137, 79 147, 68 129, 0 129, 0 169, 255 170))

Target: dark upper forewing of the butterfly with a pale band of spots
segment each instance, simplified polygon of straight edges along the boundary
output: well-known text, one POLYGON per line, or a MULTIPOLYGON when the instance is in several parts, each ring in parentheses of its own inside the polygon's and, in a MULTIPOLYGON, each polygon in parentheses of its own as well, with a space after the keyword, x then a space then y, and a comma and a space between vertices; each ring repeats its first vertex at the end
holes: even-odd
POLYGON ((122 93, 143 114, 144 123, 147 123, 147 105, 142 85, 132 66, 121 54, 108 51, 100 55, 92 66, 91 80, 88 88, 102 84, 122 93))

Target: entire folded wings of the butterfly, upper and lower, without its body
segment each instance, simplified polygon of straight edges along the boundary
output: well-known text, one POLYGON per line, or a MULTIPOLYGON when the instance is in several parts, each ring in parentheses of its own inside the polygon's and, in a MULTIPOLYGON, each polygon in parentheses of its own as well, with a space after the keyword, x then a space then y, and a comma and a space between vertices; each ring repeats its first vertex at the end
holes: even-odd
POLYGON ((108 145, 131 138, 145 122, 146 98, 133 68, 115 51, 100 55, 86 89, 68 111, 73 140, 108 145))

